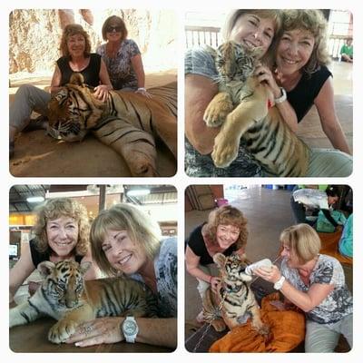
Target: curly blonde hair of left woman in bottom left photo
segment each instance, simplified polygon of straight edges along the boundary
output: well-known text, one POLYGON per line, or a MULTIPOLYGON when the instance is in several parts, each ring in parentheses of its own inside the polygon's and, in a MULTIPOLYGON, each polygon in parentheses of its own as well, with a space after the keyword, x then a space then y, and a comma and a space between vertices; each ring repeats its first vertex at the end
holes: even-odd
POLYGON ((90 247, 90 223, 87 210, 83 204, 70 198, 55 198, 45 201, 36 211, 37 216, 33 232, 35 235, 35 246, 39 252, 43 253, 49 250, 46 235, 47 222, 60 217, 69 217, 78 223, 78 241, 75 246, 75 254, 84 256, 87 253, 90 247))

